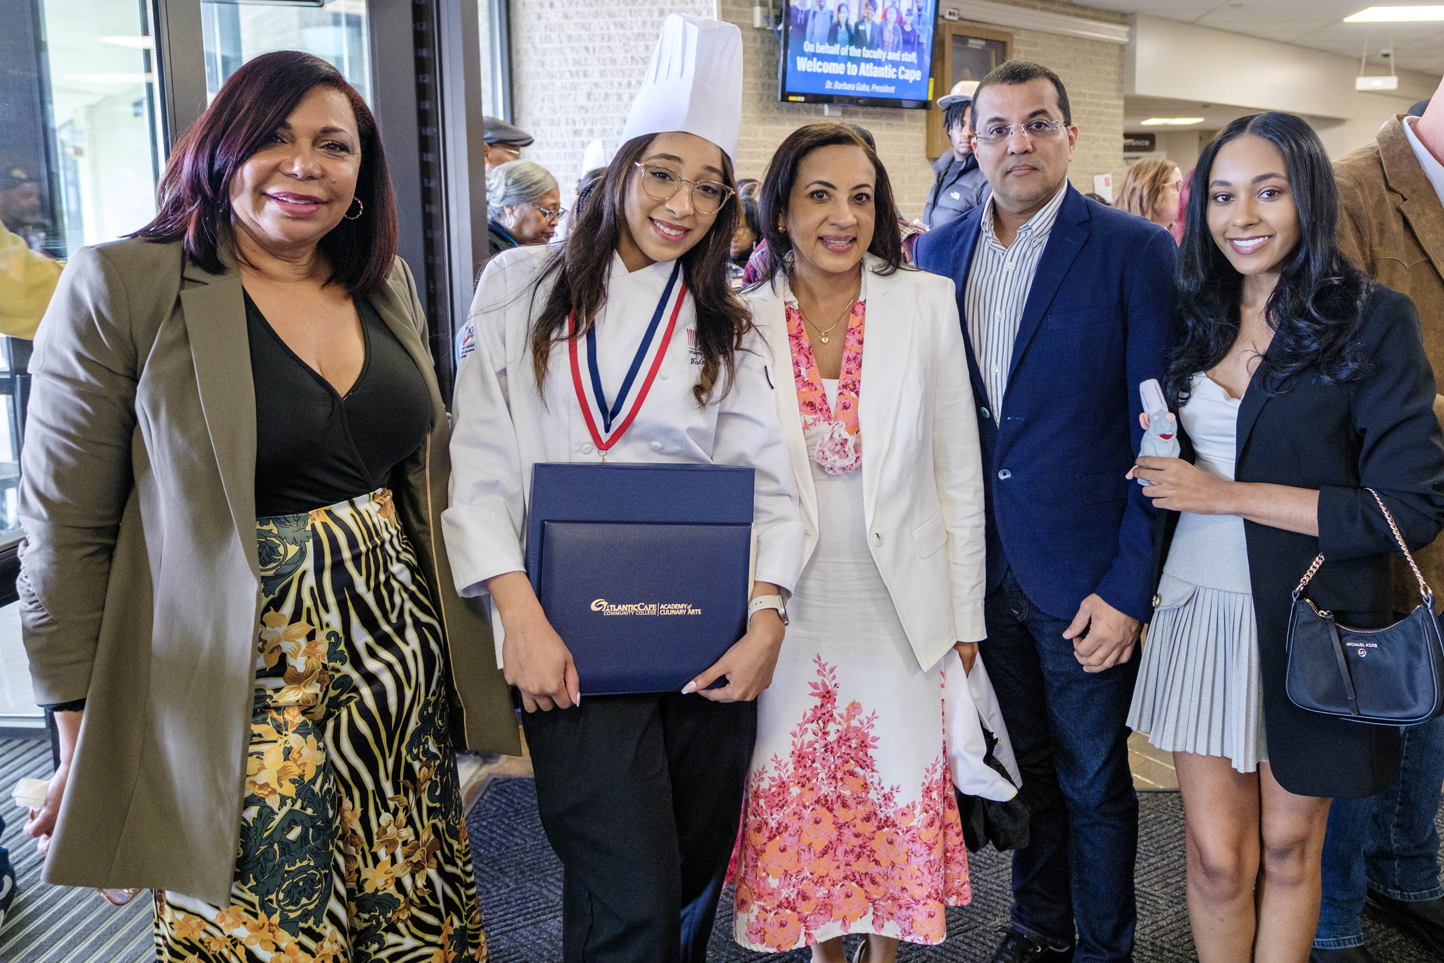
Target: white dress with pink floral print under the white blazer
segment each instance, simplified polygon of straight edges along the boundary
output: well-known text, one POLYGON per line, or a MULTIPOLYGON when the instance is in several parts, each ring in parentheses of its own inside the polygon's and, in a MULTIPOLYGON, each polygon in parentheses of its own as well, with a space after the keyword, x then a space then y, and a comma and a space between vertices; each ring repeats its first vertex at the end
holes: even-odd
MULTIPOLYGON (((885 319, 872 328, 887 336, 885 319)), ((797 344, 793 357, 794 374, 812 364, 797 344)), ((852 427, 848 368, 840 393, 826 384, 832 404, 809 407, 842 409, 838 422, 852 427)), ((918 667, 872 560, 861 466, 817 456, 838 440, 836 422, 804 413, 804 424, 819 541, 787 606, 773 684, 758 697, 734 936, 764 951, 846 933, 941 943, 944 907, 972 898, 943 742, 943 673, 918 667)))

